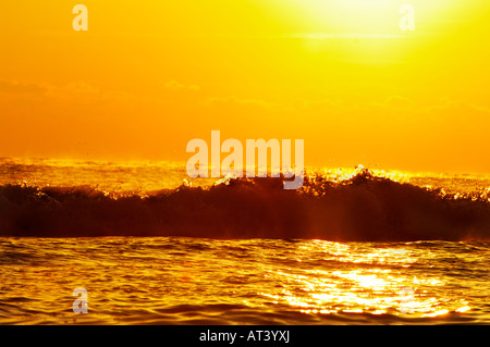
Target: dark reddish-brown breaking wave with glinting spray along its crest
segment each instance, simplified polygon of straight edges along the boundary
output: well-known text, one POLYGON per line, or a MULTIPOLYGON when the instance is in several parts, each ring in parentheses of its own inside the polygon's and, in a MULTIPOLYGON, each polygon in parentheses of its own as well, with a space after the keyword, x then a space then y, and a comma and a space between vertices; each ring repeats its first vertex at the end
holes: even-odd
POLYGON ((363 170, 345 181, 230 178, 113 197, 88 186, 0 187, 0 235, 189 236, 327 240, 490 239, 487 197, 449 197, 363 170))

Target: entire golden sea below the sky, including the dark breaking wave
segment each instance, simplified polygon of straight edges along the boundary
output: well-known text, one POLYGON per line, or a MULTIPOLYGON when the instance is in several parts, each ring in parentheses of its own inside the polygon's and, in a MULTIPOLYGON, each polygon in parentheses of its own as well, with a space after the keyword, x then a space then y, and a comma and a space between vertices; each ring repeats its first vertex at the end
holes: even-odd
POLYGON ((0 324, 489 324, 489 187, 357 168, 287 191, 4 158, 0 324))

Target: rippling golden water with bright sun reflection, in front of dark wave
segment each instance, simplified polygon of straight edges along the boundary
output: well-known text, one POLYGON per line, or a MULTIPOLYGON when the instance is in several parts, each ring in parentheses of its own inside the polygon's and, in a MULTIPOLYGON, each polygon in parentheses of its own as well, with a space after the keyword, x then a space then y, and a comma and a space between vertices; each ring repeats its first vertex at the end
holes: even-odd
POLYGON ((488 324, 488 259, 477 241, 0 238, 0 323, 488 324))

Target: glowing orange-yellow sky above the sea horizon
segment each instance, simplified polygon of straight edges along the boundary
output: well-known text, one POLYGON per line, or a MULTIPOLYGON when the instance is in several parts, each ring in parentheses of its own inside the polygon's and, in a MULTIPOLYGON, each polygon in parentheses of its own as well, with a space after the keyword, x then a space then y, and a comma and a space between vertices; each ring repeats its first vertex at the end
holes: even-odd
POLYGON ((0 156, 186 161, 219 129, 303 138, 307 166, 490 172, 488 1, 79 2, 1 1, 0 156))

